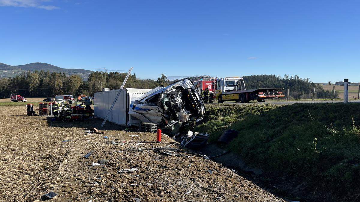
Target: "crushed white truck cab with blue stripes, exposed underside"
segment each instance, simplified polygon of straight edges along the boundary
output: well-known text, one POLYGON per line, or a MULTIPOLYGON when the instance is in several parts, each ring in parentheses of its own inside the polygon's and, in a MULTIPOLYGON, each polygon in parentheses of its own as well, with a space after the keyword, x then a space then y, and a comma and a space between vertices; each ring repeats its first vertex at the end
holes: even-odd
POLYGON ((190 79, 160 86, 131 101, 129 114, 142 122, 184 124, 205 114, 201 96, 190 79))

